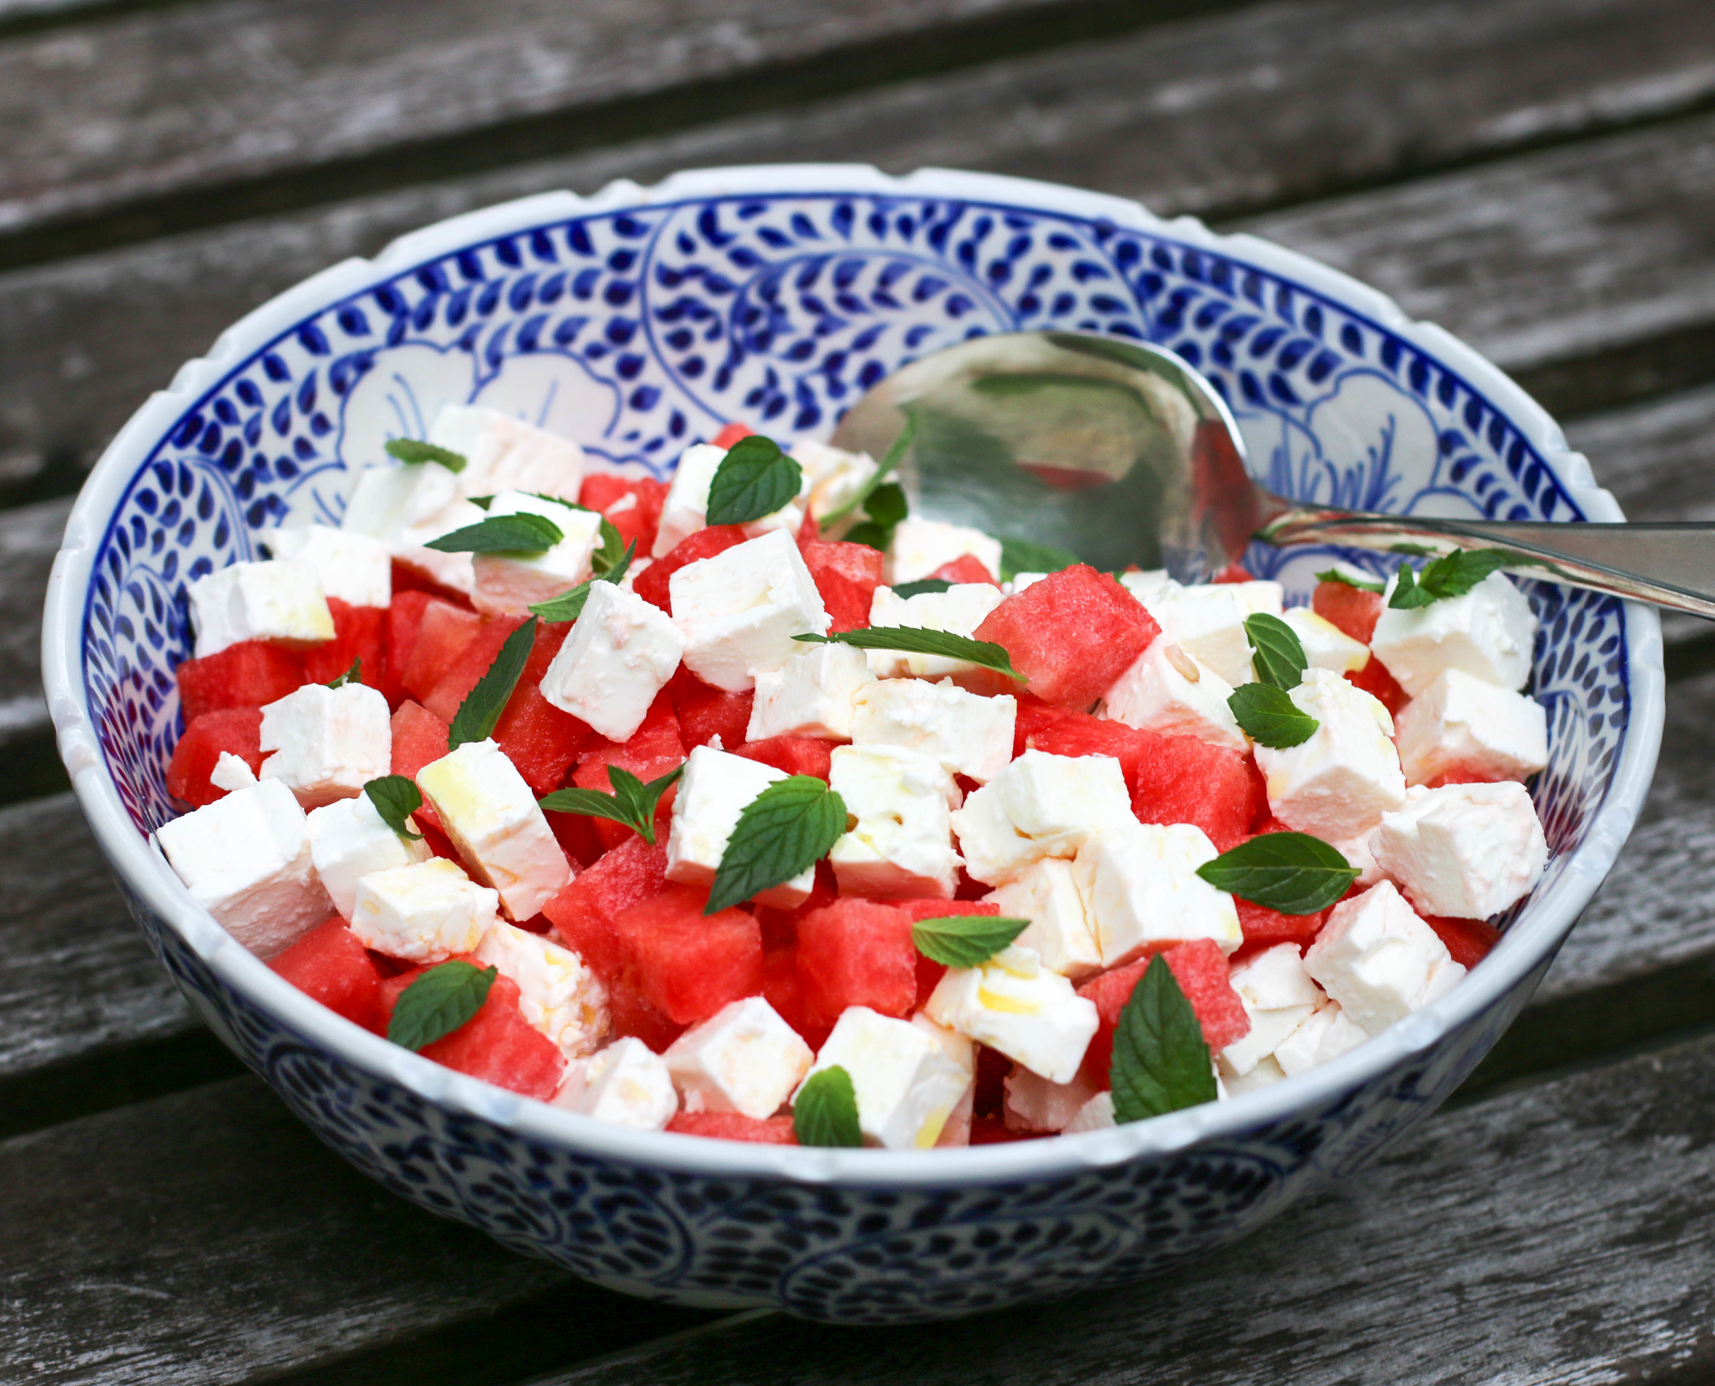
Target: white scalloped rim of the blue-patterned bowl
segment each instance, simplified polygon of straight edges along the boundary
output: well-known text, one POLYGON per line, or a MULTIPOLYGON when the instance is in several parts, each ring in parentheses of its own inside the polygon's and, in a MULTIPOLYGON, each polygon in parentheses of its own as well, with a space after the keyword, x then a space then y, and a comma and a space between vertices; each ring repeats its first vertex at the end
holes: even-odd
POLYGON ((165 391, 154 393, 118 431, 91 470, 67 520, 53 561, 43 614, 43 684, 60 756, 77 801, 108 863, 123 883, 170 926, 226 986, 285 1027, 336 1058, 394 1082, 425 1103, 492 1122, 523 1139, 588 1160, 611 1160, 664 1172, 785 1180, 837 1187, 974 1187, 1048 1180, 1132 1160, 1183 1151, 1202 1141, 1243 1139, 1247 1132, 1357 1089, 1413 1053, 1432 1048, 1471 1021, 1542 964, 1571 931, 1580 911, 1614 865, 1650 786, 1665 712, 1660 619, 1653 607, 1622 604, 1631 719, 1607 794, 1559 878, 1540 895, 1533 918, 1514 925, 1459 986, 1413 1012, 1357 1050, 1286 1082, 1230 1101, 1053 1141, 930 1151, 816 1149, 708 1141, 671 1132, 640 1132, 521 1098, 480 1079, 442 1069, 346 1021, 293 988, 247 952, 197 906, 173 875, 153 835, 144 839, 125 813, 94 734, 81 666, 91 568, 110 516, 142 458, 184 407, 213 388, 235 364, 329 302, 360 292, 466 244, 623 208, 660 208, 734 196, 899 196, 940 197, 996 208, 1022 208, 1161 233, 1221 257, 1295 280, 1420 346, 1483 395, 1542 455, 1588 520, 1622 520, 1614 497, 1595 485, 1588 461, 1568 448, 1561 427, 1499 367, 1432 322, 1417 322, 1386 295, 1326 264, 1252 235, 1216 235, 1190 216, 1163 220, 1140 202, 1058 184, 919 168, 890 177, 870 165, 736 165, 674 173, 652 187, 621 178, 590 197, 545 192, 453 216, 393 240, 374 259, 346 259, 266 304, 220 334, 204 357, 185 362, 165 391))

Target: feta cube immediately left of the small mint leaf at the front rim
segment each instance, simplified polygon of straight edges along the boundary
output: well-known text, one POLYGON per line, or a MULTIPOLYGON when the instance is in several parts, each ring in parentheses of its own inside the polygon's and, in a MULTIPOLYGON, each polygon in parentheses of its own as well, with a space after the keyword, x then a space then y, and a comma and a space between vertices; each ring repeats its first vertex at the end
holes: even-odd
POLYGON ((746 997, 688 1029, 662 1058, 686 1112, 761 1120, 797 1088, 815 1055, 768 1002, 746 997))

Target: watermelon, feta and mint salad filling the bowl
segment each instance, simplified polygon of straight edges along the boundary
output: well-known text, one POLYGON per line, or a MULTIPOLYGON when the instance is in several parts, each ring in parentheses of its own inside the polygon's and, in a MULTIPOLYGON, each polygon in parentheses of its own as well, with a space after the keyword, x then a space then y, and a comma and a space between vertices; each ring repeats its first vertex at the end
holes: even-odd
POLYGON ((448 407, 189 588, 156 841, 348 1021, 588 1117, 962 1146, 1324 1064, 1547 847, 1482 554, 1309 609, 914 518, 732 425, 671 485, 448 407))

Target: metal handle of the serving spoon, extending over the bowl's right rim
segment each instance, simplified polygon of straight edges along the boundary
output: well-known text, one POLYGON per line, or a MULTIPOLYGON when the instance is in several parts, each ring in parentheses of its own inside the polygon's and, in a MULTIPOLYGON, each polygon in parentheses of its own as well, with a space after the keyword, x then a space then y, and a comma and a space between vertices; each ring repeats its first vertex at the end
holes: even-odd
POLYGON ((1715 525, 1554 525, 1291 508, 1269 520, 1255 537, 1276 545, 1334 544, 1381 551, 1398 544, 1435 552, 1518 549, 1545 559, 1545 564, 1519 564, 1507 571, 1715 619, 1715 525))

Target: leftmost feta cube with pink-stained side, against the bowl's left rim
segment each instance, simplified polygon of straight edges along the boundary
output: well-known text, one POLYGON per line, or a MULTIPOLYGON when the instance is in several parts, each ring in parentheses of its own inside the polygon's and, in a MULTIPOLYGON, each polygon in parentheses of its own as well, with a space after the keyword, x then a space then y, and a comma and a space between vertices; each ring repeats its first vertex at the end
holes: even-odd
POLYGON ((264 962, 333 914, 304 808, 280 780, 161 823, 154 841, 190 899, 264 962))

